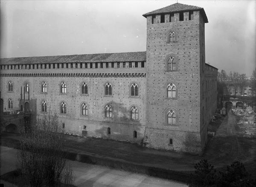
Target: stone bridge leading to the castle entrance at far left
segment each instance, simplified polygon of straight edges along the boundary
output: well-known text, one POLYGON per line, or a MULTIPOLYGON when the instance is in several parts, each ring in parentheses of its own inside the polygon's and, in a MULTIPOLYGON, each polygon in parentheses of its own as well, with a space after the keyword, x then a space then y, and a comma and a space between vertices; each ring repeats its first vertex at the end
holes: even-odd
POLYGON ((20 130, 24 128, 24 121, 28 120, 29 116, 29 112, 21 112, 19 110, 3 112, 1 119, 1 132, 20 132, 20 130))

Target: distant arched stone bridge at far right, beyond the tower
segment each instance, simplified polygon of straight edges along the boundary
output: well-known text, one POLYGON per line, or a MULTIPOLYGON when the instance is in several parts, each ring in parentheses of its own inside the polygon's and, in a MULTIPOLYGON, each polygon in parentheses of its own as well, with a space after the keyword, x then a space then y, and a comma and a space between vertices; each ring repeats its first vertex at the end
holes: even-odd
POLYGON ((254 96, 235 96, 235 95, 224 95, 222 100, 222 106, 235 106, 244 108, 244 106, 256 106, 256 97, 254 96))

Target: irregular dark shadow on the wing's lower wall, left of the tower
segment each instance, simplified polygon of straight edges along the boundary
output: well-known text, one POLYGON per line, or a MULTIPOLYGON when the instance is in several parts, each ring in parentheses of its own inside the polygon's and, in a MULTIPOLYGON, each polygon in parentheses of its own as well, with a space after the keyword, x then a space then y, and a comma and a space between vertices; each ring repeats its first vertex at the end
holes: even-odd
MULTIPOLYGON (((138 144, 143 144, 145 126, 142 126, 139 120, 131 119, 130 109, 126 108, 125 104, 114 101, 109 102, 107 105, 110 105, 112 108, 113 118, 107 118, 105 116, 105 106, 103 106, 101 114, 104 116, 105 121, 99 122, 99 126, 101 126, 101 128, 96 129, 95 133, 101 135, 102 138, 131 141, 138 144), (108 121, 108 119, 111 120, 108 121), (119 125, 115 126, 115 124, 119 125), (126 124, 129 125, 127 126, 126 124)), ((140 112, 142 111, 139 111, 138 115, 140 115, 140 112)))

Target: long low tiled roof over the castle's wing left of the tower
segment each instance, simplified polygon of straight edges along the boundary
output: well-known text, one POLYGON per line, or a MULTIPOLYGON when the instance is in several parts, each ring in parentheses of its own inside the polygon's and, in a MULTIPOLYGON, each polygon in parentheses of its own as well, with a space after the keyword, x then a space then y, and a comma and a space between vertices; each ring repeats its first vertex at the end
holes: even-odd
POLYGON ((128 62, 146 61, 146 52, 121 52, 86 55, 1 58, 0 64, 71 63, 71 62, 128 62))

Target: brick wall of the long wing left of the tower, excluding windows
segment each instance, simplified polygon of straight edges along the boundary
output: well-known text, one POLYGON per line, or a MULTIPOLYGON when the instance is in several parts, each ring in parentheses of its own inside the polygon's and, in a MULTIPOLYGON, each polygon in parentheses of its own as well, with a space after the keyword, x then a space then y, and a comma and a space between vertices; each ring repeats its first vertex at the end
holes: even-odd
MULTIPOLYGON (((128 68, 119 69, 98 69, 98 73, 137 73, 145 74, 143 68, 131 70, 128 68)), ((46 77, 15 77, 15 73, 21 70, 1 70, 1 73, 6 73, 9 77, 1 77, 0 85, 3 94, 4 111, 19 109, 20 89, 24 83, 29 83, 29 97, 36 99, 36 113, 38 118, 48 115, 48 112, 59 115, 60 123, 65 124, 67 133, 81 135, 81 131, 86 126, 88 136, 103 137, 118 139, 123 141, 132 141, 141 143, 145 132, 145 77, 48 77, 52 71, 55 73, 92 73, 97 69, 47 69, 46 77), (81 71, 82 70, 82 71, 81 71), (13 76, 12 76, 13 75, 13 76), (13 92, 8 92, 8 82, 14 83, 13 92), (64 81, 67 85, 67 93, 60 93, 60 84, 64 81), (47 93, 43 93, 41 85, 47 83, 47 93), (81 94, 81 84, 87 83, 88 94, 81 94), (111 83, 112 95, 105 95, 105 84, 111 83), (137 97, 130 96, 130 86, 136 83, 139 87, 139 95, 137 97), (13 108, 8 109, 7 101, 9 98, 13 100, 13 108), (42 112, 42 101, 47 103, 47 113, 42 112), (60 114, 60 103, 65 101, 67 104, 67 113, 60 114), (88 104, 88 116, 81 115, 81 104, 88 104), (105 106, 109 104, 113 110, 113 118, 105 118, 105 106), (131 120, 131 106, 136 106, 139 110, 139 119, 131 120), (111 128, 111 135, 107 135, 107 128, 111 128), (134 131, 137 131, 137 138, 134 138, 134 131)), ((23 70, 23 73, 29 72, 29 76, 38 73, 44 73, 42 70, 23 70)), ((52 72, 53 73, 53 72, 52 72)), ((3 75, 3 74, 2 74, 3 75)), ((26 75, 26 74, 24 74, 26 75)), ((143 75, 144 76, 144 75, 143 75)), ((22 86, 22 88, 21 88, 22 86)), ((28 98, 28 93, 25 93, 25 99, 28 98)), ((23 99, 23 97, 22 97, 23 99)), ((29 101, 30 103, 30 101, 29 101)), ((23 106, 24 108, 24 106, 23 106)), ((32 109, 32 107, 30 107, 32 109)), ((33 109, 32 109, 33 110, 33 109)), ((32 111, 35 112, 35 111, 32 111)))

